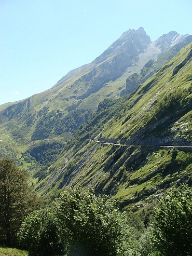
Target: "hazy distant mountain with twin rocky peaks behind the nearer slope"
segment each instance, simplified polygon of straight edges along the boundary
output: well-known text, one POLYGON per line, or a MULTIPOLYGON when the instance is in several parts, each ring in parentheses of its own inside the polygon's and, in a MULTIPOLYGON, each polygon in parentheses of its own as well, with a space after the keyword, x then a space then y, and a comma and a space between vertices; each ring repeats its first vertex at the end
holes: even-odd
POLYGON ((26 169, 43 165, 44 172, 78 127, 97 111, 100 101, 119 98, 128 75, 186 36, 170 32, 151 42, 143 28, 128 30, 93 62, 69 72, 51 89, 4 104, 0 156, 12 157, 26 169))

